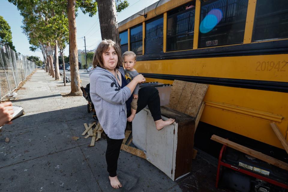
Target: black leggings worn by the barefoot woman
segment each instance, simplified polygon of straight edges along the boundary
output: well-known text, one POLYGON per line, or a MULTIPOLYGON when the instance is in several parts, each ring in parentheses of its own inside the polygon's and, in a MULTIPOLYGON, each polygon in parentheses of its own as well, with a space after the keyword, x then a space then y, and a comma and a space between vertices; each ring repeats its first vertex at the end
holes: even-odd
MULTIPOLYGON (((154 121, 161 119, 160 98, 158 90, 155 87, 147 86, 139 89, 137 111, 143 110, 148 105, 154 121)), ((131 112, 130 112, 131 113, 131 112)), ((130 116, 130 114, 127 114, 130 116)), ((117 175, 117 162, 119 158, 120 148, 123 139, 111 139, 107 135, 106 162, 107 171, 110 177, 117 175)))

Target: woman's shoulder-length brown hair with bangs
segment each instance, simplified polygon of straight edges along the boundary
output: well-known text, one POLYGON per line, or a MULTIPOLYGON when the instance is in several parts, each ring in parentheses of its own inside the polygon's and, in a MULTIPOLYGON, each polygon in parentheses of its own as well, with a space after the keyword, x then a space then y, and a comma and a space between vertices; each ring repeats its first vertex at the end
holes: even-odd
POLYGON ((113 46, 113 48, 116 51, 116 54, 118 55, 118 62, 116 65, 116 68, 119 68, 120 64, 121 64, 121 49, 120 47, 112 40, 110 39, 105 39, 103 41, 100 42, 100 44, 98 45, 95 54, 93 56, 93 68, 96 68, 96 66, 102 67, 105 69, 104 67, 104 63, 103 63, 103 58, 102 58, 102 53, 106 52, 107 50, 109 50, 109 48, 113 46))

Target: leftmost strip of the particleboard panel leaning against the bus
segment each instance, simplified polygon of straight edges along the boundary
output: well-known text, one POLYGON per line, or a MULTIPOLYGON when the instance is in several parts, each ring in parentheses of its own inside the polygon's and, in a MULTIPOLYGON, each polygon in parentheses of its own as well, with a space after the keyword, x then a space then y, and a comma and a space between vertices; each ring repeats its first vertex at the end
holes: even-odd
POLYGON ((186 85, 185 81, 179 81, 179 80, 173 81, 173 86, 171 87, 171 93, 169 99, 170 108, 172 109, 176 108, 185 85, 186 85))

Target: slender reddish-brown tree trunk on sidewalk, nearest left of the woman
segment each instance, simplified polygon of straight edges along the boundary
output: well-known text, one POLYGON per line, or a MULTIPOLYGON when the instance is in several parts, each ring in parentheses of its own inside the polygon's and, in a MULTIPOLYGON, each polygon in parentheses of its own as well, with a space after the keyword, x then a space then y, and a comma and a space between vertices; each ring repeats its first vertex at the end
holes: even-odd
POLYGON ((81 96, 80 76, 78 67, 76 18, 75 18, 76 0, 68 0, 68 22, 69 22, 69 61, 71 74, 71 96, 81 96))

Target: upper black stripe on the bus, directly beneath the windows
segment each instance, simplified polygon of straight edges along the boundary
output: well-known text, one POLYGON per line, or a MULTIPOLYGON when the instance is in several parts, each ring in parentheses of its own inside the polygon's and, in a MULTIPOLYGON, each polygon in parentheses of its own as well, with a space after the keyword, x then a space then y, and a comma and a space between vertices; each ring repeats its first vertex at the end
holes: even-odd
POLYGON ((154 54, 137 55, 137 61, 228 57, 247 55, 287 54, 288 40, 269 41, 251 44, 231 45, 222 47, 209 47, 176 52, 160 52, 154 54))

